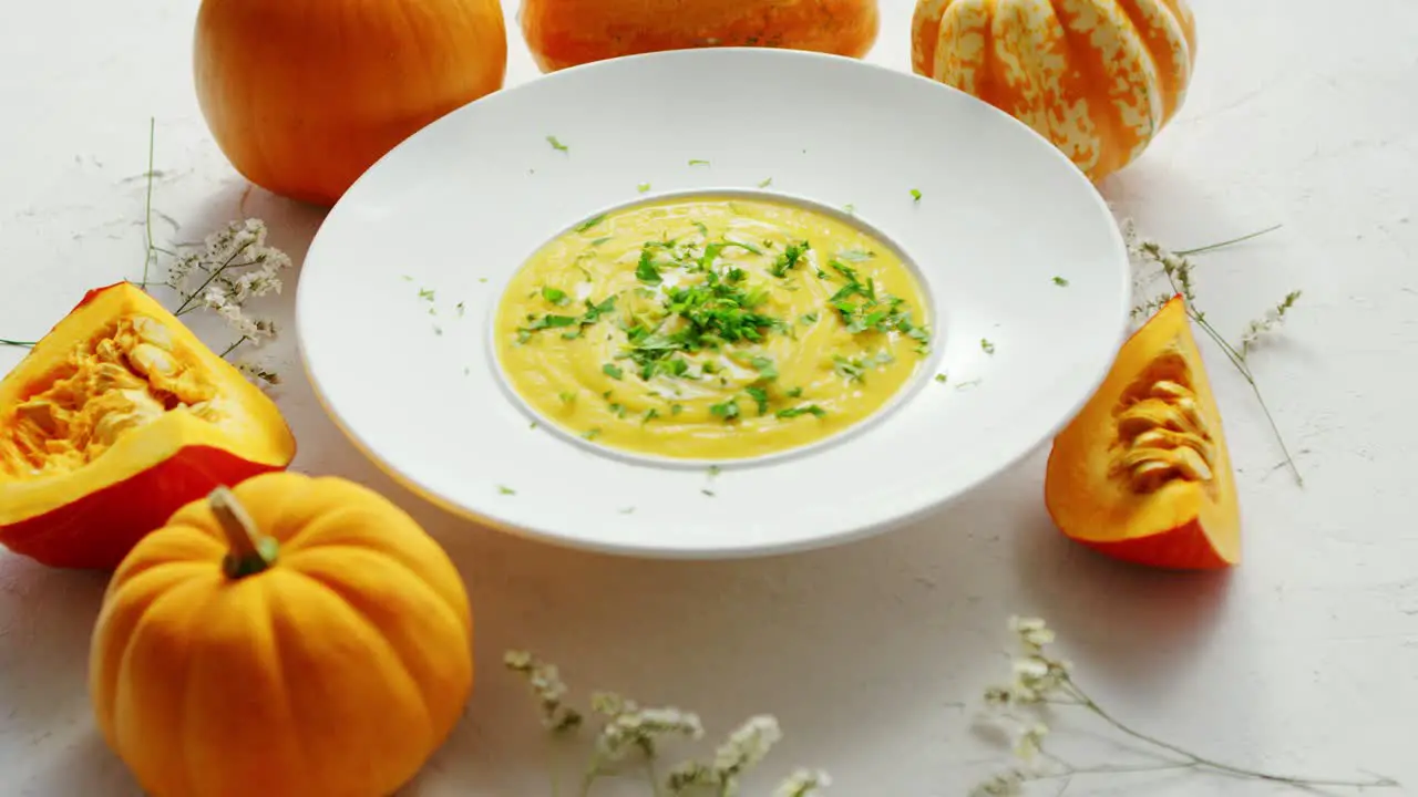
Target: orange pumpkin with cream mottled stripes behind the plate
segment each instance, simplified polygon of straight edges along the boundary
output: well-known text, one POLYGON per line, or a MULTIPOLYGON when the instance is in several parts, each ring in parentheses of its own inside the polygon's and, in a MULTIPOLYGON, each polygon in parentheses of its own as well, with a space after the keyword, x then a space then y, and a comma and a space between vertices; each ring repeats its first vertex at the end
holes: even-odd
POLYGON ((1176 116, 1197 60, 1187 0, 917 0, 912 69, 1054 142, 1092 180, 1176 116))

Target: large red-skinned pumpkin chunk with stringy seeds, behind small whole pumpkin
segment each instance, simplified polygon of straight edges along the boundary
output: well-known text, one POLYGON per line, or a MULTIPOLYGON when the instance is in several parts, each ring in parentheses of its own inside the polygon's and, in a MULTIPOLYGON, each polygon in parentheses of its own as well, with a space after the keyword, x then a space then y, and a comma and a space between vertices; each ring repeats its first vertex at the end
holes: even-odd
POLYGON ((275 404, 162 305, 89 291, 0 381, 0 545, 113 569, 177 508, 294 455, 275 404))

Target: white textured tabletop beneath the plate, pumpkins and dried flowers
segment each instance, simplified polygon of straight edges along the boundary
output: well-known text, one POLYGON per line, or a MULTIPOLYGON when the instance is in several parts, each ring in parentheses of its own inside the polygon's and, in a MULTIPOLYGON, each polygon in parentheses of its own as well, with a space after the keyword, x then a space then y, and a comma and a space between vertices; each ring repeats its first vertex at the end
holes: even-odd
MULTIPOLYGON (((536 77, 508 3, 508 85, 536 77)), ((909 69, 908 0, 883 0, 871 60, 909 69)), ((142 272, 147 119, 157 119, 159 240, 238 217, 191 88, 191 0, 48 0, 0 26, 0 336, 43 335, 85 289, 142 272)), ((1244 325, 1302 288, 1252 363, 1295 448, 1299 488, 1254 397, 1208 347, 1244 505, 1245 562, 1176 576, 1061 539, 1042 506, 1044 451, 913 528, 776 559, 665 563, 560 550, 454 519, 391 484, 271 350, 295 467, 363 481, 454 556, 474 601, 468 716, 408 796, 549 794, 546 754, 508 647, 573 688, 696 709, 705 743, 750 713, 786 739, 750 780, 794 764, 832 794, 964 794, 1008 750, 973 729, 1007 675, 1011 613, 1042 614, 1079 679, 1116 713, 1238 764, 1371 770, 1418 793, 1418 4, 1194 0, 1200 62, 1181 116, 1107 199, 1174 248, 1283 224, 1207 255, 1198 303, 1244 325), (1340 7, 1343 6, 1343 7, 1340 7)), ((244 214, 303 255, 322 213, 254 190, 244 214)), ((292 275, 294 282, 294 275, 292 275)), ((294 285, 291 285, 294 288, 294 285)), ((289 318, 294 289, 277 305, 289 318)), ((0 370, 23 355, 0 349, 0 370)), ((942 442, 943 450, 947 441, 942 442)), ((89 719, 89 630, 105 579, 0 552, 0 794, 139 790, 89 719)), ((583 692, 584 693, 584 692, 583 692)), ((1079 722, 1082 732, 1100 726, 1079 722)), ((1081 763, 1136 763, 1086 737, 1081 763)), ((675 759, 675 756, 671 756, 675 759)), ((566 762, 574 767, 574 760, 566 762)), ((576 773, 567 769, 567 777, 576 773)), ((1058 784, 1039 787, 1052 794, 1058 784)), ((597 794, 644 794, 607 783, 597 794)), ((1197 774, 1078 779, 1072 794, 1282 794, 1197 774)))

